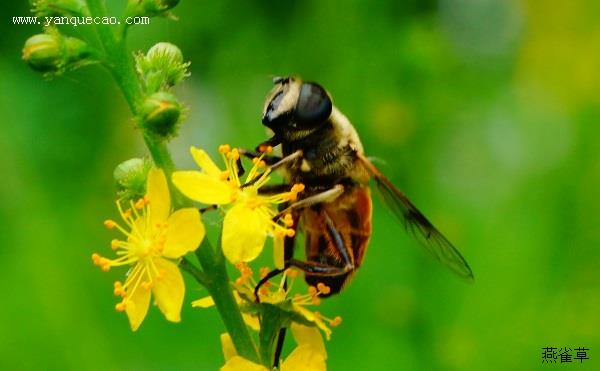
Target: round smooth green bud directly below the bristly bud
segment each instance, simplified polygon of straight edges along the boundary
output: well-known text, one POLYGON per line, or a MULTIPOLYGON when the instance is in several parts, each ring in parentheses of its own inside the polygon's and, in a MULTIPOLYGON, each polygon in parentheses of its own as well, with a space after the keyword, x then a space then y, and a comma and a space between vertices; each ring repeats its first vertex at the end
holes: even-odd
POLYGON ((177 134, 182 106, 171 93, 160 91, 150 95, 140 108, 140 126, 161 138, 177 134))

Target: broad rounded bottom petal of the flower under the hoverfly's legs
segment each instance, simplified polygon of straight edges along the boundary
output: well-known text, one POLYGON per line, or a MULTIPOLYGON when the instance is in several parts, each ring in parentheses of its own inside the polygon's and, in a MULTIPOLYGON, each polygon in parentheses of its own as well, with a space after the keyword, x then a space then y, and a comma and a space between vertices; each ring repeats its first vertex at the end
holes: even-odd
POLYGON ((267 230, 256 210, 238 203, 225 215, 223 254, 233 264, 254 260, 263 249, 267 230))

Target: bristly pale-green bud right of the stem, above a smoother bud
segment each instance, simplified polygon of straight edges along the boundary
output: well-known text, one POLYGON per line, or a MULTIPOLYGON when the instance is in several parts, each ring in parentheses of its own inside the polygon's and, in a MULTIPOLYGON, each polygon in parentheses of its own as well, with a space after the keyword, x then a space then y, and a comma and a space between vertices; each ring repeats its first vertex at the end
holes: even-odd
POLYGON ((151 47, 146 55, 136 55, 135 60, 146 93, 168 90, 189 76, 189 62, 183 62, 181 50, 171 43, 160 42, 151 47))

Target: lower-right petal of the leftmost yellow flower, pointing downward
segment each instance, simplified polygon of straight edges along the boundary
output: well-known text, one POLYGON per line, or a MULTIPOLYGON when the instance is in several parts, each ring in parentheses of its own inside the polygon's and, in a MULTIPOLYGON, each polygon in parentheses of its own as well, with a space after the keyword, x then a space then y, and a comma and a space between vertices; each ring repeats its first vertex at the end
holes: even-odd
POLYGON ((165 315, 165 318, 171 322, 181 321, 181 306, 183 305, 183 295, 185 286, 183 277, 175 263, 168 260, 157 258, 154 264, 161 274, 160 278, 154 279, 154 300, 158 309, 165 315))

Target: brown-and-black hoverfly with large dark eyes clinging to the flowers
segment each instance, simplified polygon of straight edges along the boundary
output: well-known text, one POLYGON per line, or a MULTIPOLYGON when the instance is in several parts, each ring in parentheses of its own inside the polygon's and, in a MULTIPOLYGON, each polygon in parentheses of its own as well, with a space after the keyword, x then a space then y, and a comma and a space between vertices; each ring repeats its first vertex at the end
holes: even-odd
POLYGON ((367 159, 355 128, 323 87, 296 77, 273 83, 262 117, 273 137, 256 149, 280 145, 283 156, 270 158, 270 163, 284 169, 290 184, 305 185, 286 211, 292 213, 294 228, 304 230, 306 261, 294 258, 294 237, 286 237, 283 269, 270 272, 258 286, 296 267, 309 285, 322 282, 330 287, 329 295, 340 292, 361 266, 371 236, 371 178, 393 214, 434 258, 460 277, 473 279, 460 252, 367 159))

